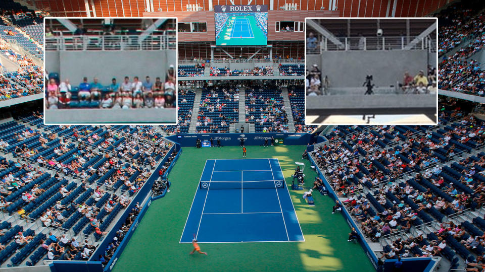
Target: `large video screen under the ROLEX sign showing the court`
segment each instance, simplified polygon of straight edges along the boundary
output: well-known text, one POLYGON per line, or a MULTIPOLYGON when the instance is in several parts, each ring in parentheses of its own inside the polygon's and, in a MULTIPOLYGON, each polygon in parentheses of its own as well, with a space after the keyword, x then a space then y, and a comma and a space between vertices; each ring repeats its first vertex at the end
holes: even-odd
POLYGON ((216 45, 266 45, 267 5, 214 6, 216 45))

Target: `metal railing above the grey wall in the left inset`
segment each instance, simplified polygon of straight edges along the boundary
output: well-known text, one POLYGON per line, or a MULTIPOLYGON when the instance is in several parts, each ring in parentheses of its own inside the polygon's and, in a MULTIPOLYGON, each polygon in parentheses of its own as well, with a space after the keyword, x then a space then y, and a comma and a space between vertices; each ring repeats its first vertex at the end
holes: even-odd
POLYGON ((176 49, 174 35, 62 36, 45 38, 46 51, 99 51, 99 50, 165 50, 176 49))

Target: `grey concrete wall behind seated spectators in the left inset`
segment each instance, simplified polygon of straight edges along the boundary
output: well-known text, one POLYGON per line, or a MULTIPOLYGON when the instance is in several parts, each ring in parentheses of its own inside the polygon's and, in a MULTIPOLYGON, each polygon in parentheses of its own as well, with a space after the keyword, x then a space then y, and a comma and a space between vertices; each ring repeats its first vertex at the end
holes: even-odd
MULTIPOLYGON (((74 86, 79 85, 83 77, 92 82, 98 77, 103 85, 111 84, 111 79, 116 78, 118 83, 125 76, 138 76, 143 81, 150 76, 152 82, 156 77, 165 80, 165 74, 170 64, 176 64, 176 50, 143 50, 143 51, 60 51, 59 74, 61 80, 69 79, 74 86)), ((55 56, 54 56, 55 58, 55 56)), ((55 71, 55 64, 50 64, 46 56, 47 66, 55 71)))

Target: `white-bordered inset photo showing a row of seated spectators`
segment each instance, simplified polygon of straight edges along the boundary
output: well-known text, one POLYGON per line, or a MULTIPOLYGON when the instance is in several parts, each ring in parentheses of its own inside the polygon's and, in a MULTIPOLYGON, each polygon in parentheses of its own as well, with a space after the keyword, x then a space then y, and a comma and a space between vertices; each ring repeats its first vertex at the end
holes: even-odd
POLYGON ((46 18, 45 124, 175 124, 176 18, 46 18))

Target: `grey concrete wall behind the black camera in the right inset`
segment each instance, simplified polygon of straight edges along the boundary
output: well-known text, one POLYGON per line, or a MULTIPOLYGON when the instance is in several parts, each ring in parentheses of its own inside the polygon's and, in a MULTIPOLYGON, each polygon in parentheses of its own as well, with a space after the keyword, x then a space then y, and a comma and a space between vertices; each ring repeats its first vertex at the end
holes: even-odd
MULTIPOLYGON (((366 75, 373 75, 376 86, 389 87, 403 80, 404 72, 416 75, 426 71, 426 50, 327 51, 320 55, 322 75, 331 87, 362 86, 366 75)), ((317 63, 316 55, 307 55, 307 67, 317 63)))

